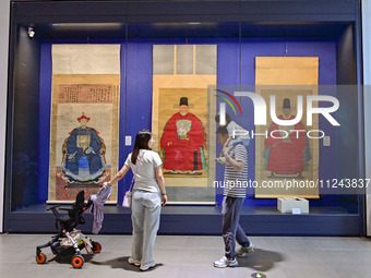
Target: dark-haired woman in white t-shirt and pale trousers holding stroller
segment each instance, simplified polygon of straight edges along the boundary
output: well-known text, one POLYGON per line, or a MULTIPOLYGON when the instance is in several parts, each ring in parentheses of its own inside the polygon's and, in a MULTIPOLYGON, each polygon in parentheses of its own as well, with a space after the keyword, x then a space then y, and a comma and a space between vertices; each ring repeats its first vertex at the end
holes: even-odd
POLYGON ((133 152, 129 154, 121 170, 104 185, 121 180, 132 169, 135 183, 132 195, 133 243, 129 264, 147 270, 156 266, 152 250, 157 235, 161 205, 167 203, 163 161, 153 152, 155 141, 148 130, 141 130, 135 137, 133 152))

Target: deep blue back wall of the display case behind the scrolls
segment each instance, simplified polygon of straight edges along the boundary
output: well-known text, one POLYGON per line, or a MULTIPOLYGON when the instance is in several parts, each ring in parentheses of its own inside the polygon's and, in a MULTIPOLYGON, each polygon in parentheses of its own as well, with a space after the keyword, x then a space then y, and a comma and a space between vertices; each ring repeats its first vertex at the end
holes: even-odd
MULTIPOLYGON (((120 85, 120 138, 119 165, 123 165, 131 146, 124 145, 127 135, 135 136, 141 129, 152 126, 152 49, 156 44, 184 44, 184 39, 128 39, 91 40, 91 44, 121 45, 121 85, 120 85)), ((254 85, 255 57, 319 57, 319 85, 336 85, 336 40, 328 38, 242 38, 242 39, 188 39, 188 44, 217 45, 217 85, 254 85)), ((86 44, 81 40, 41 41, 40 56, 40 99, 39 99, 39 145, 38 145, 38 183, 37 203, 48 197, 49 173, 49 134, 51 104, 51 45, 86 44)), ((320 90, 321 94, 321 90, 320 90)), ((328 92, 325 93, 328 95, 328 92)), ((253 130, 253 105, 249 100, 240 101, 243 116, 234 120, 247 130, 253 130)), ((232 114, 231 111, 227 112, 232 114)), ((320 129, 332 137, 332 145, 323 147, 320 141, 320 179, 337 177, 336 132, 325 119, 320 118, 320 129)), ((254 141, 249 147, 249 179, 254 180, 254 141)), ((217 144, 217 154, 220 146, 217 144)), ((216 180, 223 180, 223 166, 217 165, 216 180)), ((131 173, 119 182, 119 200, 122 198, 123 183, 128 184, 131 173)), ((215 201, 222 203, 222 189, 216 190, 215 201)), ((315 202, 314 202, 315 203, 315 202)), ((275 205, 276 200, 246 198, 244 206, 275 205)), ((315 203, 316 204, 316 203, 315 203)), ((336 205, 336 197, 324 196, 321 205, 336 205)))

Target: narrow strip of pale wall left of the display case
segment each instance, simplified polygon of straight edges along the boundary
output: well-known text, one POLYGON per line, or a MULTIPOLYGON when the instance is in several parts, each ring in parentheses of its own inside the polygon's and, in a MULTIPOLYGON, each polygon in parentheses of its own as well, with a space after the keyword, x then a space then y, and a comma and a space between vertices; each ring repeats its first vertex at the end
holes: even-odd
POLYGON ((0 232, 3 232, 10 1, 0 1, 0 232))

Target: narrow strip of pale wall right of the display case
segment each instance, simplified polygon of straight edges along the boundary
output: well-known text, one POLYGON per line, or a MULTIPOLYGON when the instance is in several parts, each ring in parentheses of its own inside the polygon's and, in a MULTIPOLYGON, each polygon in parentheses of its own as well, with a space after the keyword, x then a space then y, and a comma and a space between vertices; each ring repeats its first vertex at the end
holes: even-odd
MULTIPOLYGON (((371 178, 371 3, 362 0, 362 36, 363 36, 363 84, 364 84, 364 155, 366 178, 371 178)), ((367 190, 367 235, 371 235, 371 188, 367 190)))

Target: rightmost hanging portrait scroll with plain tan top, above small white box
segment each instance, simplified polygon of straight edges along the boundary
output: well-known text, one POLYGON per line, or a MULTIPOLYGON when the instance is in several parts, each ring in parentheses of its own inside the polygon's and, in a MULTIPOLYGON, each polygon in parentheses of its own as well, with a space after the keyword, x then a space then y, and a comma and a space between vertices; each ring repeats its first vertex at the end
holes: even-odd
POLYGON ((255 197, 316 198, 319 138, 308 134, 318 136, 312 132, 319 130, 319 119, 314 114, 312 125, 307 124, 307 97, 318 95, 319 58, 256 57, 255 62, 256 93, 267 105, 267 124, 255 126, 255 197), (299 111, 300 121, 283 124, 294 122, 299 111))

